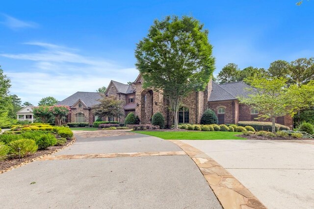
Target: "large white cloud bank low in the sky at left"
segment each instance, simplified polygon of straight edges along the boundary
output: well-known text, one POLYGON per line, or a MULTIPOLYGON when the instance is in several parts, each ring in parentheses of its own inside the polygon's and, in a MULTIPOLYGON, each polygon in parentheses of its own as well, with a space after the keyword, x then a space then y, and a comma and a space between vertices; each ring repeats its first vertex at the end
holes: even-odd
POLYGON ((7 70, 6 74, 11 79, 11 93, 34 105, 46 96, 63 100, 78 91, 96 92, 98 88, 107 86, 110 80, 127 83, 138 74, 135 68, 124 68, 103 58, 84 56, 77 49, 40 42, 26 44, 42 49, 0 56, 32 61, 30 66, 18 71, 7 70))

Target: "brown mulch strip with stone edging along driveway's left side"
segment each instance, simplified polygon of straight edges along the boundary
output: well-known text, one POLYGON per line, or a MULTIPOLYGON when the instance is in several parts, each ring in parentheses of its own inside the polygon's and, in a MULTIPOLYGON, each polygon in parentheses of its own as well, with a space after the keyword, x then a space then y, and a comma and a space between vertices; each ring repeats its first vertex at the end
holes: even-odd
POLYGON ((62 146, 51 146, 45 150, 43 149, 37 150, 37 152, 35 152, 34 154, 21 158, 21 161, 19 161, 19 158, 8 158, 4 161, 0 161, 0 173, 3 173, 9 170, 9 168, 14 168, 19 165, 24 165, 26 163, 33 162, 35 158, 38 158, 40 156, 52 154, 53 152, 56 152, 59 149, 67 147, 71 142, 74 142, 74 141, 75 139, 67 140, 67 142, 62 146))

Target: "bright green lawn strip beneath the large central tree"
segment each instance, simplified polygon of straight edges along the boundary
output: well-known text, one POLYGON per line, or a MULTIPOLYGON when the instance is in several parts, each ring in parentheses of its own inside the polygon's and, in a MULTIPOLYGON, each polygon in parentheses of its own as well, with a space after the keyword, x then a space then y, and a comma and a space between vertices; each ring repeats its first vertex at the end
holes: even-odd
POLYGON ((236 137, 240 132, 223 131, 134 131, 161 139, 214 140, 214 139, 246 139, 236 137))

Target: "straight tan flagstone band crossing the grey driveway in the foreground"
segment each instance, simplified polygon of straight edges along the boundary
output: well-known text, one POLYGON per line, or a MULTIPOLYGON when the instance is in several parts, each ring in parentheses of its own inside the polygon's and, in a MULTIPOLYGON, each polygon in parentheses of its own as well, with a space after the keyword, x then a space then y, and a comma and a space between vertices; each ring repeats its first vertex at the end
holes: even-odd
POLYGON ((73 159, 92 159, 92 158, 121 158, 121 157, 149 157, 149 156, 173 156, 186 155, 184 151, 165 151, 165 152, 131 152, 131 153, 102 153, 102 154, 78 154, 78 155, 50 155, 39 159, 40 161, 49 160, 73 160, 73 159))

